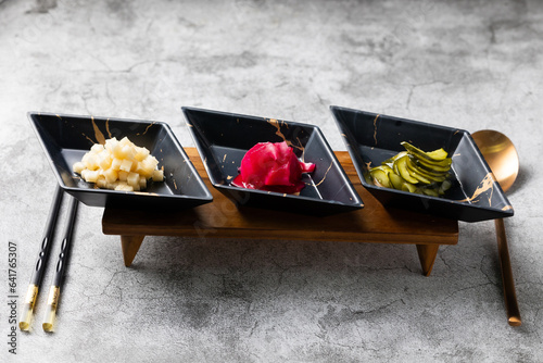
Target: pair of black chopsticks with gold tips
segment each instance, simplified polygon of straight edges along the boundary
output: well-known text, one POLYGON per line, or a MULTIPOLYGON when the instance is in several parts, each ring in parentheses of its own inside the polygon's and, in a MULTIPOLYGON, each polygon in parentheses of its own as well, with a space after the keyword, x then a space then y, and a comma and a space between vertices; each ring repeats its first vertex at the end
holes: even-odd
MULTIPOLYGON (((51 210, 49 211, 49 217, 46 224, 46 230, 43 231, 43 238, 41 239, 38 260, 36 261, 34 273, 30 278, 30 284, 28 286, 28 291, 26 293, 26 298, 23 303, 21 321, 18 322, 18 327, 21 330, 27 331, 30 329, 30 323, 34 315, 34 305, 36 304, 36 300, 38 298, 38 290, 43 279, 43 273, 49 261, 49 252, 51 251, 53 234, 56 227, 56 220, 59 216, 63 193, 64 192, 62 188, 60 186, 56 186, 56 190, 54 191, 53 202, 51 204, 51 210)), ((59 253, 59 261, 56 262, 56 268, 53 281, 51 284, 51 288, 49 289, 49 297, 47 299, 46 314, 42 324, 45 331, 53 330, 54 320, 56 316, 56 305, 59 303, 59 298, 60 298, 60 290, 62 283, 64 280, 64 273, 70 258, 72 235, 74 231, 74 223, 75 223, 75 216, 77 214, 77 206, 78 206, 77 199, 71 197, 71 202, 66 216, 64 237, 62 239, 61 250, 59 253)))

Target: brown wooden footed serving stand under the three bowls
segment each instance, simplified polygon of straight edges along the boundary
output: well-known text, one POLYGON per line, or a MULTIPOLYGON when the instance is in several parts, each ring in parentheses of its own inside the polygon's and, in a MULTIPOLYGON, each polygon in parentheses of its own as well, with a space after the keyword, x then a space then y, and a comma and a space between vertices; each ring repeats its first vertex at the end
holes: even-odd
POLYGON ((105 208, 102 230, 119 235, 123 258, 130 266, 146 236, 201 238, 325 240, 416 245, 422 273, 429 276, 440 245, 458 242, 458 223, 452 220, 384 209, 361 184, 349 153, 336 155, 364 202, 364 209, 327 217, 263 209, 237 209, 214 188, 194 148, 185 151, 213 195, 213 202, 191 210, 160 211, 105 208))

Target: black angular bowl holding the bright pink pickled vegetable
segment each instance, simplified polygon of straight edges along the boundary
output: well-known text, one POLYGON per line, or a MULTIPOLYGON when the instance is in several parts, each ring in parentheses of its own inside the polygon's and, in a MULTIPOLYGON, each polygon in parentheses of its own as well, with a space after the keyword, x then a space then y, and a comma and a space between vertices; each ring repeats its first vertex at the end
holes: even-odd
POLYGON ((318 216, 364 206, 318 127, 194 108, 182 112, 212 185, 236 205, 318 216), (245 152, 266 141, 287 141, 299 159, 315 164, 313 173, 303 174, 299 196, 230 185, 245 152))

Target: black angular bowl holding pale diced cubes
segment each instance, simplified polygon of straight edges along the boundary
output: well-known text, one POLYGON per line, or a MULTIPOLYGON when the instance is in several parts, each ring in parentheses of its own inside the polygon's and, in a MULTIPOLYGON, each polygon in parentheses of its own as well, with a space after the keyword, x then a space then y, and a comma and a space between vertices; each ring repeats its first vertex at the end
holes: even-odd
POLYGON ((213 201, 210 190, 182 150, 169 126, 161 122, 103 118, 29 112, 28 118, 49 159, 60 186, 90 206, 182 210, 213 201), (164 166, 164 182, 150 183, 146 191, 96 188, 72 171, 72 165, 94 143, 128 137, 146 147, 164 166))

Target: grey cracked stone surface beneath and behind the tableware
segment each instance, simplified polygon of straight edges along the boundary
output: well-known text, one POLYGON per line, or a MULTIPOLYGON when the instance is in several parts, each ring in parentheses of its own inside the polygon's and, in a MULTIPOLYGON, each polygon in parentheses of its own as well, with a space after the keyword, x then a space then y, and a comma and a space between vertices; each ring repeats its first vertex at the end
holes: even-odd
POLYGON ((542 2, 5 0, 0 27, 5 297, 8 241, 22 296, 54 189, 27 111, 163 121, 191 147, 179 108, 202 107, 313 123, 345 150, 338 104, 513 139, 523 318, 506 323, 492 222, 460 223, 430 277, 413 246, 333 241, 148 237, 126 268, 102 210, 81 205, 56 331, 42 291, 9 354, 1 303, 1 361, 543 360, 542 2))

